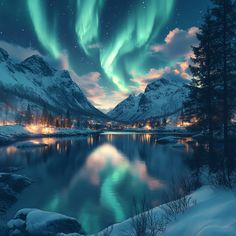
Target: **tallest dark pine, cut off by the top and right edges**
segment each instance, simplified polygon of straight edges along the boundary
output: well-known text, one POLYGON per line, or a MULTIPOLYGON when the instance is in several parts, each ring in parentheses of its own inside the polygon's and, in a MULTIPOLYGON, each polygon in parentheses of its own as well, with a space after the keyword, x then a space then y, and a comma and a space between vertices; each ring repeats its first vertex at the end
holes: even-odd
POLYGON ((222 104, 224 152, 229 151, 229 127, 235 112, 236 71, 236 3, 234 0, 212 0, 212 15, 216 22, 215 39, 218 75, 218 100, 222 104))

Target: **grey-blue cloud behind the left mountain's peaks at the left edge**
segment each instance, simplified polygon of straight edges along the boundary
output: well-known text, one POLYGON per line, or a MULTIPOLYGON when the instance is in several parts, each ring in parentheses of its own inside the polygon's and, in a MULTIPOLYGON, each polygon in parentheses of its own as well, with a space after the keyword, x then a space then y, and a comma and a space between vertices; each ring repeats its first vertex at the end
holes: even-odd
POLYGON ((0 41, 0 47, 5 49, 9 55, 17 61, 23 61, 25 58, 32 55, 41 55, 38 50, 33 48, 24 48, 22 46, 7 43, 5 41, 0 41))

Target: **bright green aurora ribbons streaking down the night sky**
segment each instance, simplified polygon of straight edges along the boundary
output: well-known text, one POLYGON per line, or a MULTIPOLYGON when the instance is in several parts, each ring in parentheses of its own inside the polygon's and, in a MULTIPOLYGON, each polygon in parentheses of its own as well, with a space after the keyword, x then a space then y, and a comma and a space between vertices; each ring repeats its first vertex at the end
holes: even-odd
MULTIPOLYGON (((104 40, 100 19, 106 0, 77 0, 74 22, 77 42, 87 56, 98 60, 117 90, 129 92, 129 85, 138 86, 129 81, 133 74, 139 76, 147 72, 150 45, 171 17, 174 2, 149 0, 148 4, 135 4, 113 35, 104 40), (93 58, 94 50, 98 50, 98 59, 93 58)), ((57 39, 57 18, 55 16, 53 22, 48 21, 44 3, 27 0, 29 15, 41 45, 54 59, 59 59, 65 49, 57 39)))

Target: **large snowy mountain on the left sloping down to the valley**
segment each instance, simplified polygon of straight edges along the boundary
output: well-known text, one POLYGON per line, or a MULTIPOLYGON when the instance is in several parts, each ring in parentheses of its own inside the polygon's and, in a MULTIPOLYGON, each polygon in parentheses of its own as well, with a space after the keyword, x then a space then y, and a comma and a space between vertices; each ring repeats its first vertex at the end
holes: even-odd
POLYGON ((105 116, 87 100, 68 71, 56 70, 36 55, 17 63, 0 48, 0 113, 22 111, 28 104, 36 112, 46 105, 55 114, 70 110, 75 116, 105 116))

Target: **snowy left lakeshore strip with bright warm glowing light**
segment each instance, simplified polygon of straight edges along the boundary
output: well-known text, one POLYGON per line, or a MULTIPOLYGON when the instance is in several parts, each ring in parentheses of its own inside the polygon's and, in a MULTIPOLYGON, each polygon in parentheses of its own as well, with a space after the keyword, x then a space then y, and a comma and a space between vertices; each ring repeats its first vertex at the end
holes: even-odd
POLYGON ((93 134, 97 131, 67 129, 67 128, 47 128, 38 126, 5 125, 0 126, 0 144, 14 142, 25 138, 55 137, 55 136, 76 136, 93 134))

